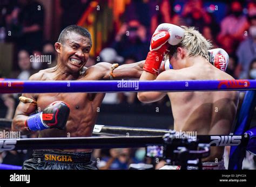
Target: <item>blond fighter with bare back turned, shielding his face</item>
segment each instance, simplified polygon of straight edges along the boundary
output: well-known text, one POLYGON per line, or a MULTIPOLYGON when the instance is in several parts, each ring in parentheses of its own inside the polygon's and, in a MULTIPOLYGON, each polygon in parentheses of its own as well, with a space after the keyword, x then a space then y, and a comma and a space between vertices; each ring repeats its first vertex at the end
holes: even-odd
MULTIPOLYGON (((157 32, 170 31, 172 24, 161 24, 157 32)), ((170 45, 169 39, 161 41, 161 47, 169 49, 163 55, 168 55, 173 69, 166 70, 157 76, 149 70, 145 62, 140 80, 233 80, 224 71, 208 62, 208 49, 211 44, 193 27, 182 27, 183 39, 170 45), (167 41, 167 42, 166 42, 167 41), (169 45, 169 47, 168 47, 169 45)), ((156 33, 154 33, 156 34, 156 33)), ((159 34, 161 35, 161 34, 159 34)), ((151 40, 152 45, 152 40, 151 40)), ((157 58, 156 58, 157 60, 157 58)), ((237 91, 208 92, 139 92, 141 102, 151 103, 168 95, 171 101, 174 118, 174 130, 195 131, 197 134, 229 134, 233 124, 238 104, 237 91)), ((203 160, 203 169, 225 169, 223 162, 224 147, 211 147, 211 155, 203 160)))

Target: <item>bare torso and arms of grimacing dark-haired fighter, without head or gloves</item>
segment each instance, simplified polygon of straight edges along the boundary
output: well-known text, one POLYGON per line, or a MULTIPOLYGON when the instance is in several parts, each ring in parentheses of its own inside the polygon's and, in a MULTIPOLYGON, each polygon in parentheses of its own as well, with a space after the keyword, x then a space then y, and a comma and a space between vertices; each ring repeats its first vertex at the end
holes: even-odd
MULTIPOLYGON (((114 69, 114 78, 139 78, 142 74, 144 62, 123 64, 114 69)), ((87 68, 84 73, 66 73, 59 69, 58 65, 53 68, 41 70, 30 77, 30 81, 86 81, 86 80, 109 80, 113 70, 112 64, 106 62, 97 63, 87 68)), ((20 102, 17 106, 12 130, 28 134, 28 128, 24 125, 28 117, 35 111, 43 111, 46 106, 57 100, 62 100, 70 106, 70 115, 64 130, 54 128, 38 131, 39 137, 79 137, 91 136, 93 126, 96 123, 99 107, 105 93, 23 93, 24 97, 36 100, 37 104, 20 102)), ((65 151, 86 151, 87 149, 72 149, 65 151)))

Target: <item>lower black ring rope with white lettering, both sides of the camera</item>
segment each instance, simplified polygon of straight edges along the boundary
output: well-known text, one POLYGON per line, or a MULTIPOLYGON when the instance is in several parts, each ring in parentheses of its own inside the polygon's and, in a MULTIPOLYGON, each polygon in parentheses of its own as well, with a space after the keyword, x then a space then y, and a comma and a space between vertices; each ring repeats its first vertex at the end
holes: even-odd
MULTIPOLYGON (((190 138, 194 138, 190 136, 190 138)), ((244 135, 197 135, 199 143, 210 146, 247 145, 250 136, 244 135)), ((163 146, 163 136, 113 136, 113 137, 72 137, 72 138, 22 138, 0 139, 0 150, 22 149, 97 149, 97 148, 138 148, 163 146)))

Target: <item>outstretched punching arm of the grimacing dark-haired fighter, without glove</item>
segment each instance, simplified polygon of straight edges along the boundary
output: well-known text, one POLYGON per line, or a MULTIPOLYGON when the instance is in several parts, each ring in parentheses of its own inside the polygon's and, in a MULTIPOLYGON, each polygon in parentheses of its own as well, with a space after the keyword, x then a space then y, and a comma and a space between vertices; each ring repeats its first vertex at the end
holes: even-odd
POLYGON ((122 78, 139 78, 143 72, 144 61, 124 64, 113 68, 113 64, 107 62, 97 63, 86 70, 86 80, 110 80, 122 78))

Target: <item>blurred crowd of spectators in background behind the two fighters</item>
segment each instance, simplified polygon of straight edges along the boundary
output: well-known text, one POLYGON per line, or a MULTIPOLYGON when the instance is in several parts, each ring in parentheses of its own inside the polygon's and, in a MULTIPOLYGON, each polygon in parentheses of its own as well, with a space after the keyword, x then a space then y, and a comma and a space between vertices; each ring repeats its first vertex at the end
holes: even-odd
MULTIPOLYGON (((90 1, 78 0, 81 6, 70 13, 70 2, 61 1, 63 10, 61 26, 76 24, 80 14, 90 1), (73 15, 75 12, 75 15, 73 15), (73 16, 72 16, 73 15, 73 16), (74 22, 75 21, 75 22, 74 22)), ((256 79, 256 2, 255 1, 202 1, 202 0, 138 0, 129 1, 122 15, 122 25, 111 34, 109 41, 96 56, 90 56, 86 67, 98 62, 129 64, 145 60, 149 51, 151 35, 161 23, 186 25, 198 28, 214 48, 223 48, 230 55, 227 73, 237 79, 256 79)), ((9 76, 28 80, 37 71, 57 64, 54 42, 44 39, 44 6, 39 1, 1 0, 0 43, 15 45, 14 66, 9 76), (38 11, 40 9, 40 11, 38 11), (11 35, 11 37, 9 37, 11 35), (36 56, 51 56, 50 63, 41 63, 36 56)), ((57 40, 57 39, 56 39, 57 40)), ((0 70, 3 73, 3 69, 0 70)), ((18 95, 1 95, 0 118, 12 119, 18 103, 18 95)), ((163 98, 158 104, 170 105, 163 98)), ((106 104, 141 104, 136 93, 107 93, 106 104)), ((12 157, 23 154, 5 152, 12 157)), ((145 159, 145 149, 96 150, 94 153, 101 169, 127 169, 129 163, 153 163, 145 159)), ((20 158, 20 156, 19 156, 20 158)), ((24 156, 25 159, 25 156, 24 156)), ((22 160, 17 160, 21 165, 22 160)), ((157 163, 154 163, 157 166, 157 163)))

